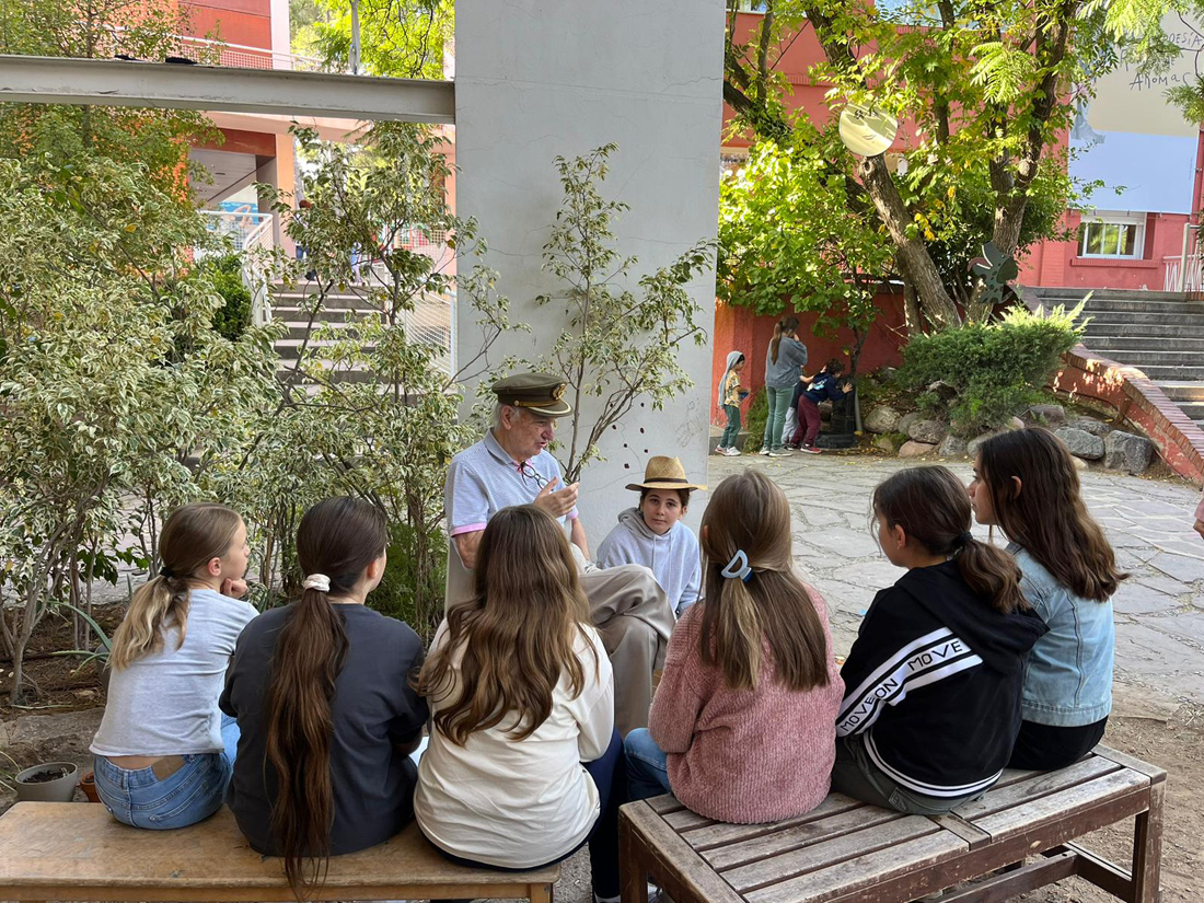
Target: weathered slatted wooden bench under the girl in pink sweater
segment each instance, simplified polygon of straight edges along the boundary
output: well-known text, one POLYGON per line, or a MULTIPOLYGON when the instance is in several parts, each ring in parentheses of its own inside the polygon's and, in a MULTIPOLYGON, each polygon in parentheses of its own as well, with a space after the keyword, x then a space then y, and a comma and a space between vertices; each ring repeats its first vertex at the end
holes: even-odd
POLYGON ((940 903, 998 903, 1070 875, 1156 903, 1165 777, 1097 746, 1058 772, 1004 772, 981 799, 940 818, 839 793, 772 825, 712 821, 672 796, 628 803, 619 816, 622 903, 648 903, 648 879, 674 903, 905 903, 984 875, 940 903), (1072 843, 1127 818, 1131 872, 1072 843))

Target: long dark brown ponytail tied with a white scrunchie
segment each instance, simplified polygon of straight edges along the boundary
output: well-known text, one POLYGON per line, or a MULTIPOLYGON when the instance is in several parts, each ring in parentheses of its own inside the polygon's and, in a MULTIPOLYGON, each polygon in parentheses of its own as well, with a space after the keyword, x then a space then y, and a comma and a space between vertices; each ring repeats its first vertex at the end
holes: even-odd
POLYGON ((306 574, 325 574, 330 591, 306 589, 288 614, 264 707, 267 761, 277 779, 272 838, 297 899, 325 880, 335 820, 331 701, 347 660, 347 633, 330 596, 350 592, 388 543, 384 514, 359 498, 318 502, 297 529, 297 562, 306 574))

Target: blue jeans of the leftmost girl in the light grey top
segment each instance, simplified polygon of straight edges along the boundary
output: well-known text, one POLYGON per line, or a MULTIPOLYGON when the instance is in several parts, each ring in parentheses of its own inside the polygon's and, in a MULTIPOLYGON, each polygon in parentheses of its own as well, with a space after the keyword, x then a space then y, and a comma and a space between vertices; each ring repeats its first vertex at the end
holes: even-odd
POLYGON ((223 752, 182 756, 179 771, 159 778, 154 768, 122 768, 93 756, 96 792, 114 819, 130 827, 165 831, 203 821, 222 808, 234 771, 238 725, 222 716, 223 752))

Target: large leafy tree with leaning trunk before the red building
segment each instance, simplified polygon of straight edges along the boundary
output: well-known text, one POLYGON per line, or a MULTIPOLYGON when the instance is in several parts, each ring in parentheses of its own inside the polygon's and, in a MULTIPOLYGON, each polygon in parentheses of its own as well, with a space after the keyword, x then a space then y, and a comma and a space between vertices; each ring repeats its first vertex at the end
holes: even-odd
MULTIPOLYGON (((846 196, 855 213, 881 223, 904 283, 933 324, 956 324, 961 314, 917 199, 952 197, 968 178, 988 203, 990 237, 1004 254, 1022 249, 1039 187, 1061 194, 1057 208, 1073 201, 1061 161, 1050 154, 1076 102, 1068 85, 1090 84, 1117 63, 1115 11, 1080 0, 907 0, 889 8, 862 0, 766 0, 761 24, 739 43, 736 6, 730 0, 724 96, 740 128, 779 141, 793 130, 777 67, 784 48, 808 29, 824 51, 813 78, 832 85, 833 114, 845 102, 864 104, 914 124, 905 177, 885 155, 866 158, 846 196)), ((1150 20, 1139 6, 1129 0, 1127 14, 1150 20)))

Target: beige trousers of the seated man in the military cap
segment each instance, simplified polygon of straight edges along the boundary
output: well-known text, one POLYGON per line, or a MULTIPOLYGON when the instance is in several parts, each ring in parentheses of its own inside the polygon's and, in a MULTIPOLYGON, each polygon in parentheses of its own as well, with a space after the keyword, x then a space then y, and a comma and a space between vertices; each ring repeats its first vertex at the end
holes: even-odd
MULTIPOLYGON (((590 603, 590 620, 602 637, 614 671, 614 726, 627 736, 648 727, 653 704, 653 671, 665 660, 665 649, 677 619, 665 590, 653 572, 641 565, 600 569, 582 566, 582 589, 590 603)), ((472 597, 472 572, 448 543, 447 608, 472 597)))

